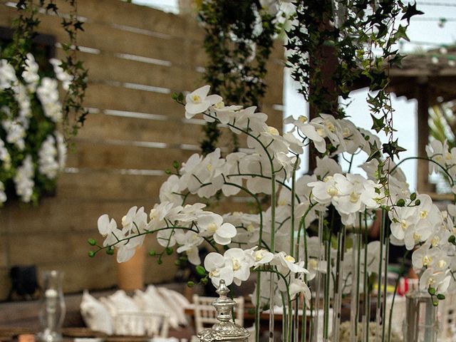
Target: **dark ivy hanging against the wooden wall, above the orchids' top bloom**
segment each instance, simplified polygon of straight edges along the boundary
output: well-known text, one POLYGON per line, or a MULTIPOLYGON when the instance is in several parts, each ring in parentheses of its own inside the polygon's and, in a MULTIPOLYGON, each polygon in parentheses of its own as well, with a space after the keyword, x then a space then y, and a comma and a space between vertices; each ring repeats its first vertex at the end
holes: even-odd
MULTIPOLYGON (((206 36, 204 80, 230 104, 257 105, 266 92, 266 62, 273 46, 276 16, 252 0, 204 0, 199 19, 206 36)), ((202 152, 212 152, 220 136, 216 123, 204 128, 202 152)), ((237 141, 234 140, 234 149, 237 141)))

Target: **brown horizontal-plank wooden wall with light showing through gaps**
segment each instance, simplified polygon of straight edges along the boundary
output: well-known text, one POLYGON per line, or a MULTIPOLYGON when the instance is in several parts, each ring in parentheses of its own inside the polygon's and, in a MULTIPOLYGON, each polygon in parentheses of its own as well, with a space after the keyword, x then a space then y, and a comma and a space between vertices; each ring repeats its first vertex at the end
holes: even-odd
MULTIPOLYGON (((58 6, 63 14, 68 11, 62 1, 58 6)), ((56 196, 38 207, 10 203, 0 209, 0 300, 8 294, 14 265, 62 269, 67 293, 115 286, 115 259, 87 257, 86 240, 100 239, 98 217, 108 213, 120 222, 133 205, 148 212, 158 201, 164 170, 197 152, 202 138, 202 120, 183 125, 184 110, 171 99, 174 91, 204 84, 204 31, 195 19, 118 0, 78 0, 78 14, 86 21, 78 44, 89 68, 85 105, 91 114, 74 140, 76 150, 56 196)), ((0 0, 0 26, 11 26, 16 16, 14 2, 0 0)), ((41 33, 66 41, 58 16, 40 19, 41 33)), ((283 50, 278 46, 262 109, 270 125, 281 127, 283 50)), ((63 58, 59 46, 57 57, 63 58)), ((240 206, 244 200, 234 202, 240 206)), ((174 274, 172 258, 162 266, 147 260, 147 283, 170 281, 174 274)))

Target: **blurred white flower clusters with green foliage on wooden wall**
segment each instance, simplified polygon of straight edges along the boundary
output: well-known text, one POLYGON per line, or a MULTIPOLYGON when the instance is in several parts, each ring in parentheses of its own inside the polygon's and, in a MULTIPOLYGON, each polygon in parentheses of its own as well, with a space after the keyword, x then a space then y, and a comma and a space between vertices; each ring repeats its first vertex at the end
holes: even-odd
POLYGON ((52 59, 56 78, 41 77, 27 54, 24 71, 0 60, 0 204, 18 198, 37 202, 53 190, 66 162, 66 143, 59 132, 63 119, 59 83, 68 90, 71 76, 52 59))

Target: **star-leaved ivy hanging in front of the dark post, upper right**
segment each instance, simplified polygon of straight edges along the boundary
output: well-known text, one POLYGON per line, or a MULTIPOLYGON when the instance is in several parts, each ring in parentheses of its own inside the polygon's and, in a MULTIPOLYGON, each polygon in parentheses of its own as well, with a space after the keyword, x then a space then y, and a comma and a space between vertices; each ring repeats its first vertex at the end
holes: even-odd
MULTIPOLYGON (((288 59, 291 76, 299 82, 299 91, 316 108, 316 113, 320 113, 318 109, 328 108, 324 101, 331 91, 346 99, 354 84, 369 87, 367 101, 372 128, 388 136, 388 142, 381 147, 371 146, 368 160, 377 159, 379 171, 404 150, 393 139, 389 70, 400 66, 404 56, 399 53, 397 43, 400 39, 408 40, 405 32, 410 18, 418 14, 423 12, 416 9, 416 4, 406 5, 400 0, 296 1, 297 20, 286 45, 291 51, 288 59), (337 65, 331 77, 333 89, 325 86, 322 61, 316 58, 321 46, 331 46, 336 57, 337 65), (388 155, 387 160, 380 160, 380 152, 388 155)), ((345 116, 341 106, 333 108, 331 114, 338 118, 345 116)), ((380 180, 385 185, 386 177, 380 180)))

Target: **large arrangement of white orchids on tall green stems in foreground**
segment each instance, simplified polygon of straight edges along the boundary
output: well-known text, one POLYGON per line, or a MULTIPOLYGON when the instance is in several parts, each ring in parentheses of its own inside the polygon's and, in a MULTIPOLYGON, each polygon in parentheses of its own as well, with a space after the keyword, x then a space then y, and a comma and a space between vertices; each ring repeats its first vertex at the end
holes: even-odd
MULTIPOLYGON (((147 234, 154 234, 166 254, 175 251, 192 264, 204 265, 199 270, 214 286, 221 279, 239 286, 252 272, 266 272, 269 276, 257 277, 252 301, 257 313, 274 305, 284 307, 284 336, 289 341, 298 333, 299 321, 294 317, 303 306, 313 308, 312 297, 318 291, 325 298, 326 338, 330 300, 337 299, 340 306, 341 296, 351 293, 358 299, 364 296, 367 305, 371 289, 368 279, 372 274, 383 274, 388 251, 385 245, 389 242, 413 250, 420 288, 432 292, 436 299, 444 298, 455 267, 455 207, 441 211, 428 195, 410 192, 403 172, 393 162, 386 168, 386 164, 379 167, 377 159, 369 160, 362 165, 367 174, 364 177, 344 174, 331 159, 342 152, 365 153, 368 157, 372 148, 380 146, 378 138, 346 118, 324 114, 310 121, 287 118, 292 128, 281 135, 267 125, 267 115, 257 113, 255 107, 224 105, 223 98, 209 95, 209 90, 204 86, 187 94, 185 103, 183 95, 176 96, 185 104, 185 117, 202 115, 207 122, 225 125, 234 134, 245 135, 248 148, 225 157, 216 149, 175 165, 175 174, 160 187, 160 203, 149 214, 142 207, 131 208, 121 227, 103 214, 98 229, 105 239, 102 244, 90 240, 96 248, 90 256, 103 249, 108 254, 118 249, 118 261, 126 261, 147 234), (299 158, 309 144, 314 144, 323 157, 318 157, 314 175, 299 177, 299 158), (385 174, 387 185, 383 182, 385 174), (255 212, 219 215, 197 202, 197 197, 230 197, 239 192, 252 197, 255 212), (271 197, 267 209, 259 202, 259 195, 264 194, 271 197), (341 224, 335 224, 334 212, 341 217, 341 224), (368 243, 369 222, 379 212, 384 213, 383 221, 388 215, 390 228, 382 224, 381 241, 368 243), (313 222, 318 222, 317 236, 311 232, 313 222), (348 241, 354 245, 348 247, 348 241), (202 260, 198 251, 204 242, 213 252, 202 260), (315 284, 309 287, 314 278, 322 290, 315 284), (271 294, 263 296, 259 289, 271 289, 271 294)), ((433 154, 437 159, 439 155, 433 154)), ((318 307, 318 298, 316 304, 318 307)), ((334 311, 338 309, 333 306, 334 311)), ((357 322, 358 317, 355 319, 357 322)), ((368 322, 368 317, 364 321, 368 322)), ((338 326, 334 328, 338 331, 338 326)), ((316 334, 318 329, 312 329, 316 334)))

